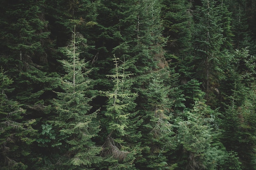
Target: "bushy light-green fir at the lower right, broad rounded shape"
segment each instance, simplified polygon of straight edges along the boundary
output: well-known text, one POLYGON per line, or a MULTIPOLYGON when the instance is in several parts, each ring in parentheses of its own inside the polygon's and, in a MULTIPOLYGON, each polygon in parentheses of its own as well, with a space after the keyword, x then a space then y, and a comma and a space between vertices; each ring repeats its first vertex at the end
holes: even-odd
POLYGON ((213 131, 212 111, 203 102, 195 102, 191 111, 185 111, 178 120, 178 142, 187 155, 186 166, 191 170, 217 169, 223 165, 225 151, 216 140, 218 131, 213 131), (211 116, 211 119, 209 117, 211 116))

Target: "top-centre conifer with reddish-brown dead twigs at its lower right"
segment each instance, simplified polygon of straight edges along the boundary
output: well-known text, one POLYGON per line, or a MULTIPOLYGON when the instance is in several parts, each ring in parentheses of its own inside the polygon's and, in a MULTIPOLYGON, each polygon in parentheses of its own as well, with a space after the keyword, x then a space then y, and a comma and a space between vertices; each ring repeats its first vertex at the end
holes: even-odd
POLYGON ((151 70, 168 66, 163 50, 166 39, 162 36, 161 8, 162 4, 158 0, 138 1, 135 7, 137 37, 134 39, 136 44, 131 49, 133 57, 130 61, 136 63, 136 67, 132 68, 136 75, 145 75, 151 70))

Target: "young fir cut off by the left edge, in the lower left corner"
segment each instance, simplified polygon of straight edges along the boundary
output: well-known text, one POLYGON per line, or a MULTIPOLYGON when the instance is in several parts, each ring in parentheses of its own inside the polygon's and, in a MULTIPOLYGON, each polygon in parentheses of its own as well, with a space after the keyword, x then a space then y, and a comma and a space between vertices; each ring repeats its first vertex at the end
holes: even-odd
POLYGON ((26 110, 7 94, 13 91, 10 79, 2 67, 0 70, 0 165, 1 169, 25 170, 31 162, 31 143, 35 141, 36 131, 32 128, 35 120, 22 120, 26 110))

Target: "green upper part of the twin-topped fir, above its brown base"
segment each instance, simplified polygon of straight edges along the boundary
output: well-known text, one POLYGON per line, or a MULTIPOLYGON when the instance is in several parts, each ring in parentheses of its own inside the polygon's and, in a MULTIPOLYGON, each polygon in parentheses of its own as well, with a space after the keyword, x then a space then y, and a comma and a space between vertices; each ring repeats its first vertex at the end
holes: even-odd
POLYGON ((136 93, 130 91, 131 83, 129 82, 129 76, 132 74, 125 72, 125 64, 123 61, 123 67, 120 70, 118 66, 119 58, 114 55, 115 74, 107 75, 112 78, 114 84, 113 92, 103 92, 109 98, 107 110, 105 116, 109 117, 108 131, 113 135, 124 136, 127 128, 128 120, 130 117, 129 110, 132 110, 136 105, 134 103, 137 97, 136 93))

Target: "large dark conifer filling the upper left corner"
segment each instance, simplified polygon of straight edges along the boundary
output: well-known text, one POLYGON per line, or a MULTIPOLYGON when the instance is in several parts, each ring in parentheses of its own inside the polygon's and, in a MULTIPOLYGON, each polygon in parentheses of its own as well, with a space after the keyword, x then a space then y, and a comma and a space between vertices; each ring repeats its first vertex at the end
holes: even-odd
MULTIPOLYGON (((7 74, 13 80, 11 88, 14 88, 8 94, 9 100, 17 101, 26 109, 19 122, 36 120, 33 124, 36 130, 47 117, 45 113, 49 113, 49 96, 57 86, 54 73, 47 72, 47 50, 52 45, 48 41, 50 33, 45 20, 44 2, 4 0, 0 7, 0 65, 8 70, 7 74)), ((29 162, 27 165, 31 168, 40 159, 40 149, 36 142, 20 145, 20 149, 23 147, 24 150, 31 150, 30 155, 22 160, 29 162)))

